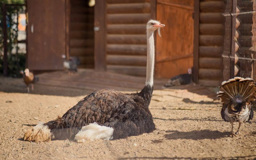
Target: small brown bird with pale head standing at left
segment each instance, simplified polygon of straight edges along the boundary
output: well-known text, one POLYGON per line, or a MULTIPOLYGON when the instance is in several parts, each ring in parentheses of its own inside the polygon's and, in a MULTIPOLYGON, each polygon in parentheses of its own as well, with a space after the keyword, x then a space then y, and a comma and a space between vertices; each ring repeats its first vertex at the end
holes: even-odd
POLYGON ((21 74, 23 74, 23 80, 27 85, 27 93, 29 93, 29 85, 32 85, 32 90, 34 90, 34 83, 38 82, 39 78, 35 76, 29 69, 25 69, 25 71, 21 70, 21 74))

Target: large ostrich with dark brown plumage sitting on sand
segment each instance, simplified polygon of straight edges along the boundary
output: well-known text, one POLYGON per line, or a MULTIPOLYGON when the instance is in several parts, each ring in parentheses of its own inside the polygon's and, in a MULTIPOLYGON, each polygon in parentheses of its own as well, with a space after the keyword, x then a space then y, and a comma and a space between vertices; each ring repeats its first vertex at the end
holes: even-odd
POLYGON ((147 75, 144 88, 138 93, 123 94, 116 90, 98 90, 83 98, 62 117, 40 123, 26 131, 24 141, 49 142, 51 139, 120 139, 155 130, 148 109, 153 92, 154 30, 164 27, 155 20, 147 23, 147 75))

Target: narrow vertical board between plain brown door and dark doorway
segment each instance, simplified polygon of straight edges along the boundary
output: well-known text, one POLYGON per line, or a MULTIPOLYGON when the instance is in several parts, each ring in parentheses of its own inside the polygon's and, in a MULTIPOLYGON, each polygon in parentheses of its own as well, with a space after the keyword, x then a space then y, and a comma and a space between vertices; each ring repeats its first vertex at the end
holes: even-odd
POLYGON ((71 10, 71 4, 70 0, 66 0, 66 58, 69 59, 69 54, 70 54, 70 47, 69 47, 69 39, 70 39, 70 10, 71 10))

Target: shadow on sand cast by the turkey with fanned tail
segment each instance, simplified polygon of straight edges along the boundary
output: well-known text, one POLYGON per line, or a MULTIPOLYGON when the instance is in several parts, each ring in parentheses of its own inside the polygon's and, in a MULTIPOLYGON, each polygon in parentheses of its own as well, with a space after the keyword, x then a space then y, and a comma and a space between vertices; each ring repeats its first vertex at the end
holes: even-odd
POLYGON ((193 130, 190 132, 181 132, 177 130, 167 130, 165 138, 167 139, 218 139, 225 138, 230 135, 230 132, 220 132, 218 130, 193 130))

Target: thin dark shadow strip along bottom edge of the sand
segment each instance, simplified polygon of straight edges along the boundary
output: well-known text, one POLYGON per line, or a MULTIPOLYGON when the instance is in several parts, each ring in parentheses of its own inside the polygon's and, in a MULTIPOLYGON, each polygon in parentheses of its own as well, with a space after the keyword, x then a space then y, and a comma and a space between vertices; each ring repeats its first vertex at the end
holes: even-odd
MULTIPOLYGON (((246 157, 226 157, 226 158, 221 158, 223 160, 230 160, 230 159, 252 159, 254 158, 255 155, 252 156, 246 156, 246 157)), ((129 158, 118 158, 120 160, 125 160, 125 159, 191 159, 191 160, 217 160, 220 158, 213 158, 213 157, 205 157, 205 158, 191 158, 191 157, 129 157, 129 158)), ((255 158, 254 158, 255 159, 255 158)))

